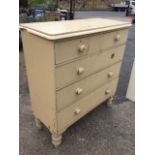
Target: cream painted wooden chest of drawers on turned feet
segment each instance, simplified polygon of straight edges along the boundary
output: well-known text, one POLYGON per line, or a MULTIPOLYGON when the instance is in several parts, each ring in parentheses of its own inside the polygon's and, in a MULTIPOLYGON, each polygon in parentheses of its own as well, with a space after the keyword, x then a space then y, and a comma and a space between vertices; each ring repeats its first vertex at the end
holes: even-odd
POLYGON ((70 125, 112 103, 130 26, 100 18, 20 25, 36 125, 55 146, 70 125))

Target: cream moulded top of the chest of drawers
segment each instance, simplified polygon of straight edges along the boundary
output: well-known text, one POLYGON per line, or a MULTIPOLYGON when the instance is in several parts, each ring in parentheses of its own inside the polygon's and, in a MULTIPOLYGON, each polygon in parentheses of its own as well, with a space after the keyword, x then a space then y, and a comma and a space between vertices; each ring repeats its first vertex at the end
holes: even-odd
POLYGON ((129 26, 131 26, 129 22, 103 18, 91 18, 67 21, 24 23, 20 24, 20 29, 26 29, 30 33, 49 40, 56 40, 96 32, 104 32, 113 29, 126 28, 129 26))

